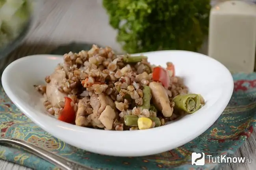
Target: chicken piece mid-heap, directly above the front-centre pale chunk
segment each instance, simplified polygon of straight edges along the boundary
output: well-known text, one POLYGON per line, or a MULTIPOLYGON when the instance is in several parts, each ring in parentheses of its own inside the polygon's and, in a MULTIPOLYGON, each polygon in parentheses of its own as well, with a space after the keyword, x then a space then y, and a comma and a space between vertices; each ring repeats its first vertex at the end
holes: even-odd
POLYGON ((109 105, 115 109, 115 103, 109 96, 106 96, 104 93, 99 95, 93 94, 91 96, 91 107, 93 107, 93 114, 95 116, 100 116, 103 110, 106 109, 106 106, 109 105))

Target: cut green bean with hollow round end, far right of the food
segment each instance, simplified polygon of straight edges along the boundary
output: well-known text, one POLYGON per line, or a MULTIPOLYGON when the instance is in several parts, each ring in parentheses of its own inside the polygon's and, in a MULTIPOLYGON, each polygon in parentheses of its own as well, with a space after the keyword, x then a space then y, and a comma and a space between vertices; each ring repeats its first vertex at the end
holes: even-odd
POLYGON ((174 107, 191 114, 200 108, 200 97, 198 94, 178 95, 173 98, 174 107))

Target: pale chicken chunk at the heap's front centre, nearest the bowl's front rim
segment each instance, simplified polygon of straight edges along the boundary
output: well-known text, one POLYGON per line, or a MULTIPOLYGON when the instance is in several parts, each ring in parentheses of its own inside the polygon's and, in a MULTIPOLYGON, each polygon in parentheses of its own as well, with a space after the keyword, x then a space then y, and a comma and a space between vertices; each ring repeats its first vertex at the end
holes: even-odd
POLYGON ((99 120, 106 127, 106 129, 111 130, 116 116, 117 115, 115 110, 108 105, 106 106, 106 109, 100 114, 99 120))

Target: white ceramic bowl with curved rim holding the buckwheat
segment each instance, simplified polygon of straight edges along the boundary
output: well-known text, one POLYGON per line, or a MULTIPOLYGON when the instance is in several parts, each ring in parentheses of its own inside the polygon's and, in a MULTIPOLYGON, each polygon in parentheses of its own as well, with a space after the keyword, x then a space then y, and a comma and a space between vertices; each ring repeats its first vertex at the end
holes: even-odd
POLYGON ((233 92, 232 75, 218 61, 195 52, 145 52, 148 61, 165 67, 175 65, 176 75, 184 78, 190 92, 201 94, 206 104, 178 121, 135 131, 109 131, 79 127, 49 116, 34 84, 44 83, 62 56, 33 55, 11 63, 2 74, 2 85, 9 98, 32 121, 70 145, 111 156, 146 156, 171 150, 195 139, 219 118, 233 92))

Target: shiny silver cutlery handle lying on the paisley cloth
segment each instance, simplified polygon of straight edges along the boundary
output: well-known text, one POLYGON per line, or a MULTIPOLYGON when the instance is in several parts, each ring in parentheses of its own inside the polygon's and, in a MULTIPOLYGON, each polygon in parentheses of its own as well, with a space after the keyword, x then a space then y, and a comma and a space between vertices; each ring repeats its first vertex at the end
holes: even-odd
POLYGON ((0 139, 0 143, 20 146, 31 154, 41 157, 42 159, 54 164, 61 170, 93 170, 90 167, 67 160, 64 157, 58 156, 56 154, 52 154, 51 152, 40 148, 39 146, 28 143, 27 141, 20 139, 0 139))

